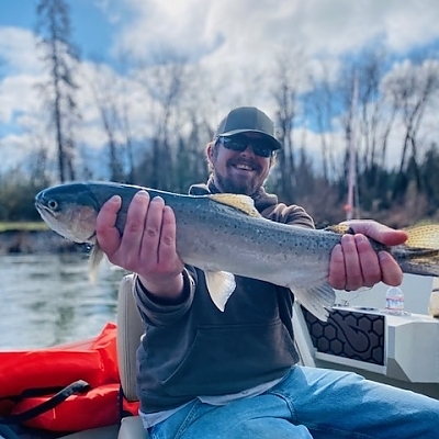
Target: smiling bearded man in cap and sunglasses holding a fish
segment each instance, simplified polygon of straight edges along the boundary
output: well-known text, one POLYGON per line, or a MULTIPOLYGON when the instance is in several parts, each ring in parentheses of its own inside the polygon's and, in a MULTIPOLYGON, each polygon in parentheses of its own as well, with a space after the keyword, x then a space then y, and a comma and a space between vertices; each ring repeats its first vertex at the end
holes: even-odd
MULTIPOLYGON (((263 182, 281 145, 256 108, 238 108, 219 123, 206 156, 207 184, 190 193, 250 195, 267 218, 314 227, 299 206, 278 203, 263 182)), ((109 259, 137 273, 135 296, 146 336, 137 352, 140 415, 151 438, 434 438, 439 402, 359 375, 295 365, 293 296, 284 288, 236 278, 224 313, 212 303, 202 271, 176 252, 176 221, 164 200, 133 199, 121 237, 121 201, 97 221, 109 259)), ((356 290, 397 285, 402 271, 367 236, 386 245, 406 234, 371 221, 350 222, 331 254, 329 283, 356 290)), ((214 230, 213 230, 214 233, 214 230)))

